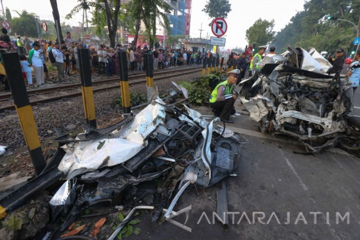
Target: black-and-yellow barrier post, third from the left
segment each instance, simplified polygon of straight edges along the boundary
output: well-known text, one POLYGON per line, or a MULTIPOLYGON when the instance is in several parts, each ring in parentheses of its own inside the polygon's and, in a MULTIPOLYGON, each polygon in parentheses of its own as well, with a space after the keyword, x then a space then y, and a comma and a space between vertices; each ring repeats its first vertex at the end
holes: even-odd
POLYGON ((122 108, 124 113, 130 113, 131 112, 130 88, 129 88, 129 75, 127 74, 126 52, 118 51, 118 58, 119 58, 118 69, 120 73, 122 108))

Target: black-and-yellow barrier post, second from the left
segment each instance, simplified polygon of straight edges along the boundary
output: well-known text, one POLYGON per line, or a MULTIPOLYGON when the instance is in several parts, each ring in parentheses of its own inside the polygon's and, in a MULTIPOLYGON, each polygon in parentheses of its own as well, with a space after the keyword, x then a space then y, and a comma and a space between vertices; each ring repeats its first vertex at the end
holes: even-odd
POLYGON ((87 49, 77 50, 79 65, 82 102, 84 104, 84 112, 87 124, 96 128, 95 102, 93 84, 91 82, 91 70, 89 63, 89 52, 87 49))

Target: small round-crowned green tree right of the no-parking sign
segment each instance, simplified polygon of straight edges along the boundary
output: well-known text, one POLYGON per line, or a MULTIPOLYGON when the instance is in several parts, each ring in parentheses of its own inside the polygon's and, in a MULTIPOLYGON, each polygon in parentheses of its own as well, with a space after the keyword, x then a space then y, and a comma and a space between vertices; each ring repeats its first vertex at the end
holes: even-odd
POLYGON ((246 39, 249 45, 256 43, 257 46, 267 45, 269 42, 274 40, 275 31, 275 20, 267 21, 261 18, 257 19, 255 23, 246 30, 246 39))

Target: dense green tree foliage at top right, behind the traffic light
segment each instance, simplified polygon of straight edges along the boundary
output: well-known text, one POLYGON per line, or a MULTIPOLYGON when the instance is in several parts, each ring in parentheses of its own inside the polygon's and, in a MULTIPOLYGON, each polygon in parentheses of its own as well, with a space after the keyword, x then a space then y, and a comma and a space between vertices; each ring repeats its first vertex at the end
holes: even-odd
POLYGON ((288 46, 315 47, 319 52, 329 53, 343 48, 350 52, 356 36, 355 27, 343 21, 325 20, 328 15, 354 22, 360 31, 359 0, 309 0, 305 2, 304 10, 294 15, 276 34, 272 45, 278 53, 288 46))

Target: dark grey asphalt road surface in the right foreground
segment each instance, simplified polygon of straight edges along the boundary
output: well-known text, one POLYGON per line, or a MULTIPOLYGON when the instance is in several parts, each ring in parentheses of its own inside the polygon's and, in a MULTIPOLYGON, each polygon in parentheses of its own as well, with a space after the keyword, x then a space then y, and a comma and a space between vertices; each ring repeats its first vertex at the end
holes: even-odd
MULTIPOLYGON (((360 106, 360 91, 356 103, 360 106)), ((198 111, 211 114, 205 107, 198 111)), ((235 212, 229 215, 229 229, 213 221, 218 183, 189 188, 175 205, 175 211, 191 205, 186 226, 192 232, 170 222, 152 226, 145 214, 138 226, 141 235, 131 239, 360 239, 359 158, 337 148, 301 154, 306 151, 297 141, 263 135, 247 115, 229 127, 243 138, 237 176, 225 178, 228 211, 235 212)), ((184 223, 186 217, 173 219, 184 223)))

